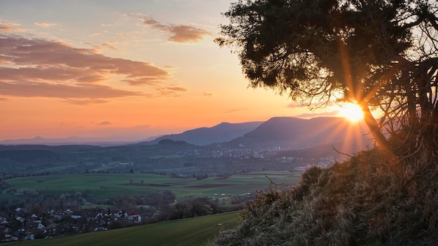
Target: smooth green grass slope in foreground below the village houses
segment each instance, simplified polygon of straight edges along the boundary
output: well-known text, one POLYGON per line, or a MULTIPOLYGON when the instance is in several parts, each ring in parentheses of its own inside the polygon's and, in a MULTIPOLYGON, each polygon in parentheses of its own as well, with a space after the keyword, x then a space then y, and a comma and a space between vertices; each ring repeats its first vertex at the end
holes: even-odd
POLYGON ((206 243, 216 238, 220 231, 234 228, 239 221, 240 213, 229 212, 220 215, 178 219, 144 226, 85 233, 77 236, 6 243, 5 245, 206 245, 206 243))

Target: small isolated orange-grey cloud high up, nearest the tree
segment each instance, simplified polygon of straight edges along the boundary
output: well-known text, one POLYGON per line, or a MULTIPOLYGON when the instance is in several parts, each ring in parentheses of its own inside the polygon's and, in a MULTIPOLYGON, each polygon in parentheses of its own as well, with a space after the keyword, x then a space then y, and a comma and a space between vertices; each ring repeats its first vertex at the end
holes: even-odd
POLYGON ((211 33, 205 29, 200 29, 188 24, 162 24, 151 17, 145 17, 134 13, 128 15, 137 20, 141 20, 148 27, 167 32, 170 35, 167 40, 175 43, 196 43, 202 41, 205 36, 211 35, 211 33))

